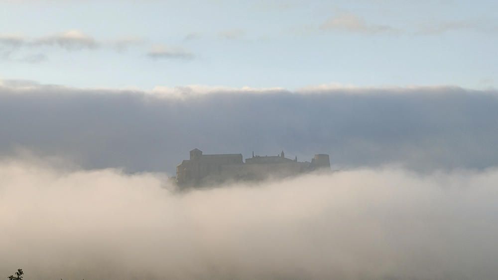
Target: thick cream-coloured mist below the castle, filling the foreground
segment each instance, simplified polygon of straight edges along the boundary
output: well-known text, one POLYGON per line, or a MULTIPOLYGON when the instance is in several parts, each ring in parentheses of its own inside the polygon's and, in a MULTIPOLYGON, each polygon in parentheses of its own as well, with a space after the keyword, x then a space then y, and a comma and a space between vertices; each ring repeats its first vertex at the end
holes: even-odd
POLYGON ((3 159, 1 277, 498 277, 496 168, 355 168, 190 191, 168 182, 3 159))

